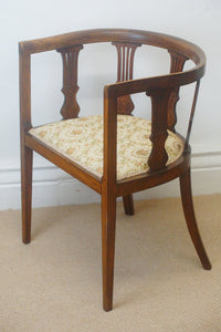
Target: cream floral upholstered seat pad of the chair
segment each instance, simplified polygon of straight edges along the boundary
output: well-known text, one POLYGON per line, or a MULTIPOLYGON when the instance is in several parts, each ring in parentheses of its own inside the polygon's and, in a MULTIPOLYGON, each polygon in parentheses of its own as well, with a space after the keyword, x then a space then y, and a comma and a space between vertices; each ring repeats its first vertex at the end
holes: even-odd
MULTIPOLYGON (((147 173, 151 152, 151 122, 117 115, 117 179, 147 173)), ((102 178, 103 176, 103 116, 71 118, 33 127, 30 134, 69 159, 102 178)), ((167 165, 183 152, 183 142, 168 131, 167 165)))

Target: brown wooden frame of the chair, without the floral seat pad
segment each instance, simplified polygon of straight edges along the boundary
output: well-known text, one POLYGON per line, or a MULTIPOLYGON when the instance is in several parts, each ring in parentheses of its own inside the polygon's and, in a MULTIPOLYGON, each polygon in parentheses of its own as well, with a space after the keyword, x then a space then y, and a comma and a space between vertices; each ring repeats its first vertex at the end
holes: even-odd
MULTIPOLYGON (((99 29, 86 30, 51 38, 43 38, 19 43, 20 51, 20 120, 21 120, 21 193, 22 193, 22 239, 24 243, 31 240, 31 200, 32 200, 32 157, 33 151, 81 180, 102 196, 102 248, 103 248, 103 308, 113 309, 114 286, 114 250, 116 228, 116 198, 123 196, 127 215, 134 214, 133 193, 151 188, 167 181, 180 178, 182 206, 187 226, 196 247, 202 267, 211 269, 211 263, 204 250, 197 226, 190 180, 191 149, 189 137, 194 115, 200 79, 204 74, 206 55, 197 45, 185 40, 138 30, 99 29), (80 106, 76 103, 77 56, 84 44, 110 42, 119 48, 130 48, 133 52, 141 44, 166 49, 171 56, 170 73, 167 75, 133 80, 133 61, 124 53, 126 64, 119 63, 118 77, 114 84, 104 87, 104 175, 99 179, 88 170, 71 162, 53 148, 29 134, 31 123, 31 55, 34 53, 56 50, 63 59, 63 118, 77 117, 80 106), (182 71, 186 60, 192 60, 194 66, 182 71), (120 74, 123 71, 127 73, 120 74), (166 166, 168 156, 165 149, 167 129, 176 132, 176 103, 179 98, 179 87, 196 82, 196 93, 192 103, 190 122, 185 143, 185 152, 175 163, 166 166), (151 98, 152 129, 150 139, 152 151, 148 159, 149 172, 145 175, 117 180, 116 178, 116 126, 117 113, 131 114, 134 105, 130 94, 145 92, 151 98)), ((123 50, 125 52, 125 50, 123 50)))

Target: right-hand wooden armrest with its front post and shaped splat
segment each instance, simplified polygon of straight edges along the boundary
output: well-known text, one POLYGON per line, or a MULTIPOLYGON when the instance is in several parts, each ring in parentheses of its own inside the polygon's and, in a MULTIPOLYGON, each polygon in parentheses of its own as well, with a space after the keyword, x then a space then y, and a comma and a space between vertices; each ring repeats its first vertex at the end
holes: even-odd
POLYGON ((117 82, 104 89, 104 176, 112 175, 116 179, 116 127, 117 98, 123 95, 146 92, 151 98, 151 154, 148 158, 149 170, 155 172, 166 167, 168 155, 165 143, 168 136, 168 104, 173 89, 199 82, 204 73, 204 66, 196 66, 188 72, 169 75, 117 82), (107 162, 108 160, 108 162, 107 162))

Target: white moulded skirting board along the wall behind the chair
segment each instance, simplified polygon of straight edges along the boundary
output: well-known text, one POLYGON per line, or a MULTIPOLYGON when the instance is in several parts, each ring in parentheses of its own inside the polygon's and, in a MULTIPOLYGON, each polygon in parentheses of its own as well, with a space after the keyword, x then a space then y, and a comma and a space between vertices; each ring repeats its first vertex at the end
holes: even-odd
MULTIPOLYGON (((20 169, 0 169, 0 210, 20 209, 20 169)), ((221 152, 192 155, 193 195, 221 193, 221 152)), ((178 179, 134 195, 135 199, 179 196, 178 179)), ((82 183, 42 160, 34 163, 33 207, 77 205, 99 201, 99 195, 82 183)))

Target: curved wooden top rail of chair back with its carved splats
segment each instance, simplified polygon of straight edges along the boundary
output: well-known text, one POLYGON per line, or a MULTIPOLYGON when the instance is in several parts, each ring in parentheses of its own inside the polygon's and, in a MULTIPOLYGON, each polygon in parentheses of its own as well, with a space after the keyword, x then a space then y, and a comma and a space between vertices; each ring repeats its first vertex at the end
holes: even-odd
MULTIPOLYGON (((176 103, 179 100, 179 86, 197 82, 193 104, 186 137, 186 147, 189 143, 194 106, 199 90, 199 82, 204 73, 206 55, 197 45, 185 40, 148 31, 125 29, 101 29, 66 33, 62 37, 52 37, 20 43, 20 52, 30 56, 38 52, 56 49, 63 60, 63 89, 64 104, 61 110, 63 118, 77 117, 80 105, 76 102, 77 59, 84 44, 112 42, 117 49, 117 83, 105 87, 108 98, 117 100, 118 114, 131 114, 134 104, 130 94, 146 92, 151 98, 152 142, 151 155, 148 159, 149 169, 159 170, 166 167, 167 152, 165 142, 167 129, 175 132, 177 123, 176 103), (166 49, 171 58, 170 73, 168 75, 133 80, 134 54, 141 44, 166 49), (61 46, 62 45, 62 46, 61 46), (182 72, 185 62, 192 60, 194 66, 182 72)), ((110 105, 110 104, 109 104, 110 105)), ((30 113, 30 112, 28 112, 30 113)), ((113 113, 113 110, 112 110, 113 113)), ((31 115, 29 116, 31 126, 31 115)), ((115 144, 115 143, 113 143, 115 144)))

